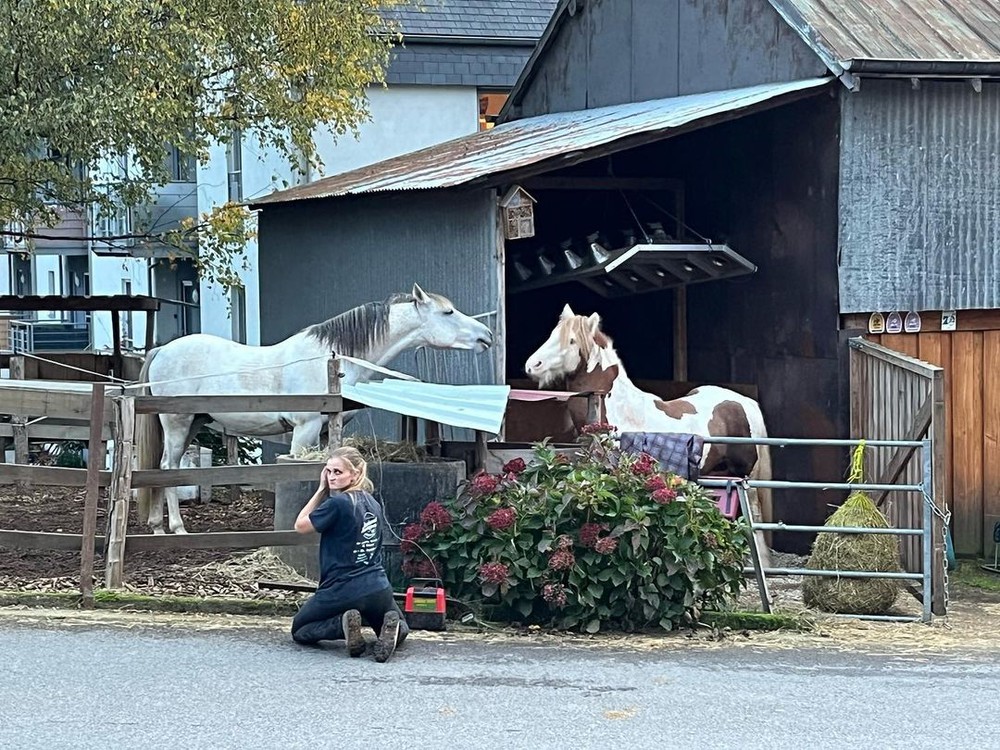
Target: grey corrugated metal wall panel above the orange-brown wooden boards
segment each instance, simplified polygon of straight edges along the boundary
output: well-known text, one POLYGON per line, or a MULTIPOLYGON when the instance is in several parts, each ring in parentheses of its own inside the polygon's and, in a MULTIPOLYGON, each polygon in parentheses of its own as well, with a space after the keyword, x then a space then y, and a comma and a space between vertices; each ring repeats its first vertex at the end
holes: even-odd
POLYGON ((841 96, 841 312, 1000 307, 1000 83, 841 96))

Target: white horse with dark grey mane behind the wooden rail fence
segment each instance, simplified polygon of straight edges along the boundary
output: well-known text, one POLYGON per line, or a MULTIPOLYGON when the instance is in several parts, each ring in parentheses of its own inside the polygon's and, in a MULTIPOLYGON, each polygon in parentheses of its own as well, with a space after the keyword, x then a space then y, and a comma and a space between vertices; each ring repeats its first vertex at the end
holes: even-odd
MULTIPOLYGON (((394 294, 308 326, 272 346, 246 346, 206 334, 192 334, 152 349, 140 383, 154 396, 235 394, 318 394, 328 388, 331 353, 384 365, 400 352, 429 346, 482 352, 493 344, 493 332, 455 309, 438 294, 413 285, 411 294, 394 294)), ((342 361, 346 384, 364 382, 373 372, 342 361)), ((326 420, 318 412, 137 415, 138 468, 176 469, 194 436, 205 425, 228 435, 266 437, 289 442, 291 450, 319 444, 326 420)), ((170 531, 185 533, 174 487, 142 489, 140 518, 153 533, 163 531, 163 496, 170 531), (154 502, 155 500, 155 502, 154 502)))

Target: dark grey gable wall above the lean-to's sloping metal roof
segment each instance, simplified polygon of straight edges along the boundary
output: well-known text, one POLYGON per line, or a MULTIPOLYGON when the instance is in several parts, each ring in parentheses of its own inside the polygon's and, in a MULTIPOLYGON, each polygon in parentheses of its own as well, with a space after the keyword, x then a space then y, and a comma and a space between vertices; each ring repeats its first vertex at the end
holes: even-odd
POLYGON ((566 15, 519 117, 811 78, 826 68, 760 0, 588 0, 566 15))

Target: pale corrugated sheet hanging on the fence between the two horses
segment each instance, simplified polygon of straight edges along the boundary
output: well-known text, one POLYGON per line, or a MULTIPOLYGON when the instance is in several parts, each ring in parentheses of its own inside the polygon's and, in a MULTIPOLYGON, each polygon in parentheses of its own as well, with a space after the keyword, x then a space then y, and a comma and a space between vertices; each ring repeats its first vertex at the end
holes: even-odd
POLYGON ((509 385, 442 385, 381 380, 343 386, 344 398, 373 409, 429 419, 452 427, 500 432, 509 385))

